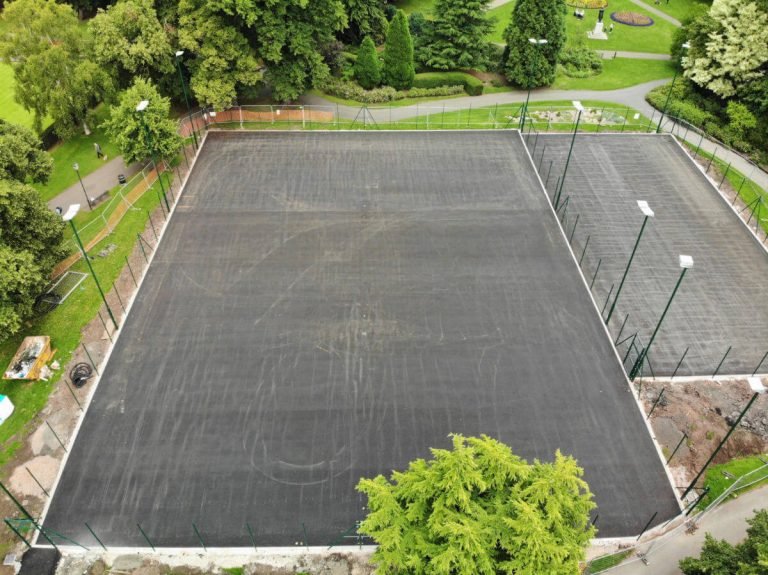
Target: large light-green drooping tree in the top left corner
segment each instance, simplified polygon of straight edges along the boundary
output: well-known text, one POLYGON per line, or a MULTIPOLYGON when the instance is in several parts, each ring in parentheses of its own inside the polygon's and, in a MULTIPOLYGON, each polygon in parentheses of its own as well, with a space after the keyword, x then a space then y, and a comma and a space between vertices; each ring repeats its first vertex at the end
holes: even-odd
POLYGON ((55 0, 16 0, 3 12, 7 31, 0 55, 13 66, 16 100, 68 138, 90 108, 112 93, 109 74, 88 59, 90 47, 70 6, 55 0))

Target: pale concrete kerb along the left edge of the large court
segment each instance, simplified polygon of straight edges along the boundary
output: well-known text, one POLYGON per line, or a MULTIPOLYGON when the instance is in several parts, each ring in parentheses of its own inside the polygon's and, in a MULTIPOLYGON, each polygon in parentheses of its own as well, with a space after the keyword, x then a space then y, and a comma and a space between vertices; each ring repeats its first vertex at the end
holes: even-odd
MULTIPOLYGON (((197 162, 197 158, 199 156, 199 150, 202 148, 203 144, 205 143, 205 139, 207 137, 207 132, 203 135, 203 139, 200 142, 200 146, 198 147, 198 152, 195 154, 194 158, 192 159, 192 165, 189 167, 189 171, 187 172, 187 177, 184 179, 184 181, 181 183, 181 186, 179 188, 178 197, 176 198, 176 202, 173 204, 173 207, 171 208, 170 213, 168 214, 168 217, 165 218, 165 222, 160 229, 159 238, 157 241, 157 244, 155 245, 155 249, 152 251, 149 257, 149 262, 147 263, 146 268, 144 268, 144 273, 139 278, 139 283, 136 289, 133 291, 133 295, 131 296, 130 300, 126 304, 125 313, 122 314, 121 320, 123 320, 123 323, 125 321, 125 318, 128 317, 128 314, 131 312, 131 308, 133 307, 134 302, 136 301, 136 297, 139 294, 139 291, 141 290, 141 286, 144 283, 144 279, 147 276, 147 272, 149 271, 150 266, 152 265, 152 261, 155 258, 155 254, 157 253, 157 248, 160 246, 160 242, 163 239, 163 235, 165 234, 165 230, 168 228, 168 223, 171 220, 171 216, 173 215, 174 211, 176 210, 176 206, 179 203, 179 199, 181 198, 182 194, 184 193, 184 189, 186 188, 187 182, 189 181, 189 177, 192 174, 192 170, 195 168, 195 163, 197 162)), ((160 172, 157 172, 158 178, 160 178, 160 172)), ((69 459, 70 454, 72 453, 72 446, 75 443, 75 440, 77 439, 77 436, 80 432, 80 428, 82 427, 83 421, 85 420, 85 416, 88 413, 88 408, 91 405, 91 401, 93 400, 94 395, 96 394, 96 389, 99 386, 99 383, 101 382, 101 374, 104 373, 104 367, 106 367, 107 363, 109 363, 109 358, 112 355, 112 351, 115 349, 115 345, 117 344, 118 339, 120 338, 120 335, 122 334, 123 330, 119 329, 116 330, 113 333, 112 340, 109 343, 109 346, 107 347, 107 352, 104 354, 103 359, 101 360, 101 363, 98 366, 98 375, 94 378, 93 385, 91 385, 91 389, 88 392, 88 395, 85 399, 85 405, 84 408, 80 411, 80 416, 77 419, 77 423, 75 424, 75 428, 72 431, 72 434, 69 437, 69 441, 67 442, 67 449, 64 453, 64 457, 61 460, 61 464, 59 465, 59 470, 56 473, 56 479, 53 482, 53 485, 50 489, 50 496, 45 502, 45 505, 43 506, 43 512, 40 514, 40 518, 38 520, 38 525, 43 525, 45 523, 45 517, 48 513, 48 509, 50 508, 51 502, 53 501, 53 496, 56 494, 56 489, 59 486, 59 481, 61 480, 61 476, 64 473, 64 468, 66 467, 67 461, 69 459)), ((32 537, 32 546, 33 547, 50 547, 48 544, 39 544, 38 539, 40 537, 40 531, 35 530, 35 534, 32 537)), ((64 549, 68 549, 67 546, 57 546, 62 551, 64 549)), ((80 549, 79 547, 74 547, 74 549, 80 549)))

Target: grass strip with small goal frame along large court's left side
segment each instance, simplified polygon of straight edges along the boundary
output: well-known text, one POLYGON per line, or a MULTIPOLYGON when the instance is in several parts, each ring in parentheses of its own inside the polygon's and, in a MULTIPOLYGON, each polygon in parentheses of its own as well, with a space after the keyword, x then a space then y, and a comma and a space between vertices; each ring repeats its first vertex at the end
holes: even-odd
MULTIPOLYGON (((157 184, 155 184, 157 185, 157 184)), ((91 250, 98 253, 107 244, 116 244, 115 249, 105 258, 95 257, 92 261, 96 274, 102 286, 108 291, 115 279, 125 266, 125 256, 129 255, 136 244, 136 234, 144 230, 147 222, 146 210, 153 210, 158 204, 158 198, 152 190, 148 190, 134 204, 136 210, 129 210, 115 231, 91 250)), ((88 268, 82 260, 72 266, 73 271, 88 273, 88 268)), ((101 299, 93 279, 88 277, 69 296, 60 307, 51 313, 30 321, 23 332, 0 344, 0 365, 2 369, 10 362, 21 340, 27 335, 48 335, 51 346, 57 349, 55 359, 62 366, 66 365, 73 351, 80 344, 80 333, 85 325, 96 317, 101 306, 101 299)), ((115 310, 117 313, 120 310, 115 310)), ((109 321, 105 318, 106 321, 109 321)), ((0 380, 0 393, 11 398, 16 410, 13 415, 0 426, 0 467, 5 465, 16 450, 21 447, 22 437, 32 430, 35 416, 45 406, 48 396, 62 375, 55 373, 48 381, 15 382, 0 380)))

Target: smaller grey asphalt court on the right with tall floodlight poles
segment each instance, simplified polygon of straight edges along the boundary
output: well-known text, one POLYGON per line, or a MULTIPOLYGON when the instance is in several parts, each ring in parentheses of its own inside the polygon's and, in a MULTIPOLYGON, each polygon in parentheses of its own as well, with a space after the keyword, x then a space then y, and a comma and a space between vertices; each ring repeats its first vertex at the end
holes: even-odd
MULTIPOLYGON (((531 139, 531 147, 534 143, 544 178, 554 160, 552 194, 571 137, 541 135, 531 139)), ((637 332, 647 342, 680 276, 678 256, 690 255, 694 267, 651 347, 651 369, 670 375, 689 348, 677 374, 711 376, 731 347, 719 373, 751 374, 768 351, 765 249, 672 136, 579 134, 573 150, 562 192, 563 199, 570 197, 566 229, 570 235, 578 214, 574 251, 579 255, 590 236, 585 275, 591 278, 602 260, 594 286, 601 307, 611 285, 618 287, 640 231, 637 200, 655 212, 619 296, 611 333, 618 335, 629 314, 621 339, 637 332)), ((766 370, 768 361, 761 372, 766 370)))

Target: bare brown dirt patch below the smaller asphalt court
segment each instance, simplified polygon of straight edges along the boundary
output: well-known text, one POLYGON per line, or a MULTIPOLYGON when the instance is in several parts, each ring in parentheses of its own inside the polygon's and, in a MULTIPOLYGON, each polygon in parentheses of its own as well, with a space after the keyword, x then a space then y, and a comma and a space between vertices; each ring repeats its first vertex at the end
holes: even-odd
MULTIPOLYGON (((768 383, 766 379, 764 385, 768 383)), ((685 488, 738 419, 749 403, 752 391, 744 379, 643 381, 640 398, 646 413, 651 411, 662 389, 664 393, 651 416, 651 426, 665 458, 672 456, 670 471, 677 486, 685 488)), ((739 422, 714 463, 766 452, 768 396, 761 395, 739 422)))

